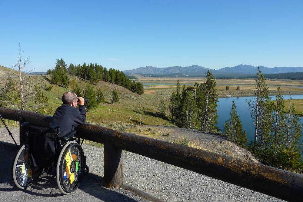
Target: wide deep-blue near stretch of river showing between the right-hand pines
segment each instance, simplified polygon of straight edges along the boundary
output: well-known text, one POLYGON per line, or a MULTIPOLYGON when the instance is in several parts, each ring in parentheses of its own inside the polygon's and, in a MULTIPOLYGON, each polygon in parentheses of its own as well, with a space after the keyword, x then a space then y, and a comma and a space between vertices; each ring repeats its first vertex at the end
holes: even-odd
MULTIPOLYGON (((269 96, 271 100, 276 100, 276 96, 269 96)), ((301 95, 291 95, 292 99, 303 99, 303 94, 301 95)), ((229 97, 229 98, 218 98, 218 124, 217 126, 223 132, 224 124, 227 119, 229 119, 229 112, 231 108, 231 101, 234 100, 236 104, 237 114, 243 125, 243 130, 246 131, 247 138, 249 142, 254 140, 255 127, 253 125, 253 120, 250 116, 250 111, 246 100, 250 100, 253 97, 229 97)), ((290 99, 290 95, 283 95, 285 100, 290 99)), ((303 117, 300 117, 300 123, 303 124, 303 117)), ((303 135, 303 131, 301 132, 303 135)), ((303 139, 303 137, 301 137, 303 139)))

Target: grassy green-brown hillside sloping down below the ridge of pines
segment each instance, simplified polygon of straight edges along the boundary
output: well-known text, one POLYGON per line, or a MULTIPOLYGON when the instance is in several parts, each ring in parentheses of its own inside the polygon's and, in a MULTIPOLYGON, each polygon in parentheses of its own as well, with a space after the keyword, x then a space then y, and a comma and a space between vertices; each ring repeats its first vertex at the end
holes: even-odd
MULTIPOLYGON (((0 76, 4 76, 11 69, 0 67, 0 76)), ((18 88, 18 72, 12 71, 12 78, 16 83, 18 88)), ((88 84, 83 79, 78 77, 74 78, 78 83, 79 87, 84 89, 88 84)), ((32 75, 30 78, 30 83, 41 82, 41 85, 52 86, 50 91, 44 91, 48 97, 50 106, 53 108, 53 113, 55 109, 62 104, 61 98, 62 94, 66 91, 70 91, 70 88, 62 88, 58 85, 50 84, 48 79, 49 75, 32 75)), ((114 122, 123 123, 133 123, 133 124, 154 124, 154 125, 172 125, 167 118, 158 118, 158 104, 160 103, 160 92, 155 92, 155 94, 135 94, 122 86, 116 84, 111 84, 105 81, 99 81, 98 84, 94 85, 95 89, 100 88, 105 97, 105 103, 102 103, 98 108, 87 113, 87 120, 94 123, 104 123, 110 124, 114 122), (120 101, 118 103, 111 104, 112 89, 118 91, 120 101)), ((17 93, 17 92, 16 92, 17 93)), ((168 101, 168 99, 167 99, 168 101)), ((19 103, 15 101, 15 107, 20 107, 19 103)), ((10 106, 12 107, 12 106, 10 106)), ((52 115, 52 114, 51 114, 52 115)))

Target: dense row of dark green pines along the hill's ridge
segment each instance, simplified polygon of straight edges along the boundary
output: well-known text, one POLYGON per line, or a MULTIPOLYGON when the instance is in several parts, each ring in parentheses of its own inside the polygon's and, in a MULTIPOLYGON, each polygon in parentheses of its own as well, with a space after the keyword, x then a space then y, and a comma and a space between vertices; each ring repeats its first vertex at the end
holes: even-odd
POLYGON ((72 76, 76 75, 83 78, 92 84, 103 80, 111 82, 112 84, 123 86, 124 88, 139 95, 144 93, 143 84, 141 82, 132 82, 122 71, 112 68, 107 70, 107 68, 103 68, 102 65, 99 64, 83 63, 83 65, 77 66, 70 64, 67 67, 67 64, 63 59, 57 59, 55 68, 49 69, 47 74, 51 75, 53 84, 57 84, 65 88, 68 86, 68 84, 70 84, 68 77, 68 74, 70 74, 72 76))

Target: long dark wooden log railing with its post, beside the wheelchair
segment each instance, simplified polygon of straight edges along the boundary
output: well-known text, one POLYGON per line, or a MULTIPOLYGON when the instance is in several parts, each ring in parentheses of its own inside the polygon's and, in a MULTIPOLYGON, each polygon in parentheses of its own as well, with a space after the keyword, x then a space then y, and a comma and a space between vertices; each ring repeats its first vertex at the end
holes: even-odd
MULTIPOLYGON (((51 117, 29 111, 0 108, 5 119, 47 126, 51 117), (22 118, 22 119, 20 119, 22 118)), ((76 128, 85 139, 104 144, 106 187, 123 184, 123 153, 130 151, 287 201, 303 201, 303 176, 166 141, 83 124, 76 128)))

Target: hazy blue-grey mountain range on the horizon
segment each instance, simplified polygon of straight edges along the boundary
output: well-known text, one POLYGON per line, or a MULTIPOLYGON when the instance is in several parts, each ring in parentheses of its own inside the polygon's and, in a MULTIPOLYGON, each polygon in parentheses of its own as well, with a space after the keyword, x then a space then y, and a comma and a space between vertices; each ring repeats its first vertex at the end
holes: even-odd
POLYGON ((264 66, 252 66, 252 65, 237 65, 235 67, 225 67, 219 70, 209 69, 201 67, 199 65, 191 65, 188 67, 174 66, 157 68, 152 66, 139 67, 132 70, 123 71, 124 74, 141 74, 141 75, 170 75, 170 76, 202 76, 205 75, 205 71, 210 70, 215 75, 254 75, 257 74, 258 68, 263 74, 278 74, 286 72, 303 72, 303 67, 275 67, 268 68, 264 66))

